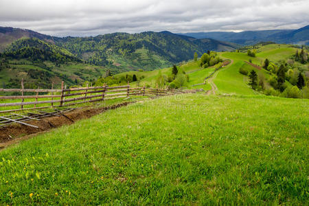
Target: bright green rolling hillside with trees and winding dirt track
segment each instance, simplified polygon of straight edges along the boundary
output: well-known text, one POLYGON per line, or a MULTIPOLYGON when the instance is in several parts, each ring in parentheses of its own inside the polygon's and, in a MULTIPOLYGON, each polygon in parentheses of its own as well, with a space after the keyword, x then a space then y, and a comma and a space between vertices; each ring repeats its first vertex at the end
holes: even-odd
MULTIPOLYGON (((301 64, 293 60, 293 55, 295 52, 299 50, 298 48, 294 47, 293 45, 277 45, 277 44, 268 44, 268 45, 255 45, 256 49, 256 56, 248 56, 247 49, 244 52, 220 52, 218 56, 222 59, 229 59, 232 60, 232 64, 227 65, 219 71, 216 72, 214 76, 214 80, 212 80, 216 87, 218 87, 217 93, 233 93, 233 94, 240 94, 240 95, 253 95, 259 94, 260 92, 254 91, 249 87, 249 77, 242 75, 239 71, 240 68, 247 71, 248 73, 251 70, 254 70, 258 73, 258 77, 264 79, 264 88, 271 89, 273 86, 270 84, 271 79, 276 77, 275 73, 271 71, 267 71, 266 69, 261 68, 264 60, 268 58, 274 65, 279 67, 282 64, 286 64, 286 62, 293 62, 292 65, 287 65, 288 69, 295 69, 297 68, 298 71, 301 71, 306 78, 309 78, 309 67, 307 64, 301 64), (252 62, 255 65, 260 66, 260 69, 257 67, 253 67, 249 65, 248 62, 252 62)), ((253 47, 248 47, 253 48, 253 47)), ((203 88, 205 90, 211 89, 210 84, 206 82, 204 85, 198 85, 196 87, 192 87, 194 84, 201 84, 204 82, 204 79, 209 76, 209 74, 214 71, 214 67, 209 67, 203 69, 199 65, 200 60, 194 62, 187 62, 179 65, 179 69, 181 71, 185 71, 189 76, 189 82, 183 85, 183 88, 186 89, 199 89, 203 88)), ((137 82, 131 82, 130 84, 133 87, 136 86, 143 86, 149 85, 150 87, 156 87, 157 77, 159 72, 168 76, 172 71, 172 68, 165 68, 160 70, 154 71, 130 71, 126 73, 119 73, 115 77, 119 78, 120 76, 130 75, 133 76, 135 74, 137 76, 137 82)), ((293 85, 286 80, 287 87, 293 87, 293 85)), ((260 93, 261 94, 261 93, 260 93)))

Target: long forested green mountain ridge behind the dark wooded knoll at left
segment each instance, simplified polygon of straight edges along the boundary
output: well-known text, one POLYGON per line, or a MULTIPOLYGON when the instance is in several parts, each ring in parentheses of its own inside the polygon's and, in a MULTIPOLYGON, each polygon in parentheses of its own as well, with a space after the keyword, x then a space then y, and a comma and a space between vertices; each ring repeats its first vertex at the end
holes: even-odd
MULTIPOLYGON (((194 52, 201 56, 207 50, 227 51, 238 47, 235 43, 210 38, 192 38, 171 32, 113 33, 94 37, 59 38, 32 30, 0 27, 0 52, 9 50, 11 52, 10 47, 14 41, 25 41, 26 38, 38 38, 66 49, 73 56, 93 65, 119 67, 126 70, 167 67, 192 59, 194 52)), ((38 43, 38 41, 34 42, 38 43)), ((22 49, 22 45, 28 47, 38 45, 28 43, 19 42, 19 47, 15 49, 22 49)))

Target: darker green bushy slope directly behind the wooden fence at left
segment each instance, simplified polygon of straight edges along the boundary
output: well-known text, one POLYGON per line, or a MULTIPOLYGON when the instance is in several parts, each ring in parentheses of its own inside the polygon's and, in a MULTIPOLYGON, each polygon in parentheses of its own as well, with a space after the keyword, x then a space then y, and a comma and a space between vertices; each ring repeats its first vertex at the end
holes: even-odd
POLYGON ((89 65, 83 62, 67 62, 56 64, 55 62, 43 61, 32 62, 25 58, 20 60, 5 60, 0 58, 0 87, 19 88, 21 78, 25 80, 27 88, 60 88, 61 81, 67 86, 82 84, 84 81, 93 81, 104 76, 105 67, 89 65))

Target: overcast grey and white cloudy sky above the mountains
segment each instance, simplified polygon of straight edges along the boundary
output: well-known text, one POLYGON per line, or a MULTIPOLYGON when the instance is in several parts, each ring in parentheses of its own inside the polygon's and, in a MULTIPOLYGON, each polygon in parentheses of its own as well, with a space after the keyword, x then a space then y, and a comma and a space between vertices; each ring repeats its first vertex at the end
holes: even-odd
POLYGON ((0 0, 0 26, 54 36, 296 29, 308 0, 0 0))

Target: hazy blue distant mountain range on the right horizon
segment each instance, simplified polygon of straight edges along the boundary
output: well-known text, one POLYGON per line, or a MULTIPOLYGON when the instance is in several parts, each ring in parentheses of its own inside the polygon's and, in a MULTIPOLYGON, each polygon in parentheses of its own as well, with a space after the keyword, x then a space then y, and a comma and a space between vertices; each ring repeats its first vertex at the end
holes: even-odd
POLYGON ((213 38, 239 45, 253 45, 261 41, 273 41, 296 45, 309 45, 309 25, 298 30, 263 30, 245 32, 197 32, 182 35, 194 38, 213 38))

